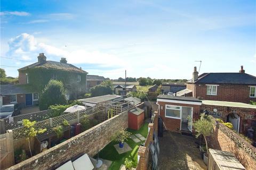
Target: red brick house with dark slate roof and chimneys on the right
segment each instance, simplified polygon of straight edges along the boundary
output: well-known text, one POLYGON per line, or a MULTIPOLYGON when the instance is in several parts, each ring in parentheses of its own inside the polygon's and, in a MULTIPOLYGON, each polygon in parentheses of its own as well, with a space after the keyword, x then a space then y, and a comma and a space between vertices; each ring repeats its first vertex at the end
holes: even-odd
POLYGON ((256 77, 246 74, 243 66, 237 73, 203 73, 198 76, 196 67, 193 79, 186 82, 186 89, 177 96, 192 96, 204 100, 256 101, 256 77))

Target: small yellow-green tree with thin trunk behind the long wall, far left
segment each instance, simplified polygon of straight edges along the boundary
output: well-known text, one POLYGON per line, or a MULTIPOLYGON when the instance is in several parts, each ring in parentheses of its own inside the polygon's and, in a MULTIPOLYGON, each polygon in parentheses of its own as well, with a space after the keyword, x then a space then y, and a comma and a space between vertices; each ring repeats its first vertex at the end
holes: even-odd
POLYGON ((28 141, 30 156, 32 157, 32 152, 31 152, 31 147, 30 147, 30 140, 31 140, 31 138, 36 137, 37 134, 44 133, 46 131, 46 129, 36 129, 35 128, 36 121, 30 122, 27 119, 22 120, 22 124, 25 128, 24 134, 25 134, 26 140, 28 141))

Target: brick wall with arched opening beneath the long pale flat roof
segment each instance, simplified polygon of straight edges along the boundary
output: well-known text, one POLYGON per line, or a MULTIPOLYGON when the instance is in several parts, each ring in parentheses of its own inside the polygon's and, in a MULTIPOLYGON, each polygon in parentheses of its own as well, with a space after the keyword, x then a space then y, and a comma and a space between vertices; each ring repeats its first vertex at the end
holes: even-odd
POLYGON ((249 120, 246 119, 246 115, 255 115, 256 117, 256 109, 254 108, 244 108, 244 107, 228 107, 228 106, 214 106, 214 105, 204 105, 201 106, 201 111, 206 109, 207 111, 212 112, 213 109, 217 109, 217 113, 221 113, 221 119, 223 121, 227 121, 227 116, 235 111, 237 115, 240 116, 240 124, 239 124, 239 132, 246 134, 247 129, 252 126, 253 121, 256 120, 249 120))

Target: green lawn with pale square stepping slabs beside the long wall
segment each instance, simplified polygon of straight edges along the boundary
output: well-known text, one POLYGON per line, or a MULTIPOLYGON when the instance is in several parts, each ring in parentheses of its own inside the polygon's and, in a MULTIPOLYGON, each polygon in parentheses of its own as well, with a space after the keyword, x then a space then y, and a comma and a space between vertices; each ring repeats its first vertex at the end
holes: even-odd
MULTIPOLYGON (((140 133, 143 137, 147 138, 148 135, 148 123, 144 123, 140 130, 132 130, 127 129, 127 131, 131 132, 132 134, 140 133)), ((129 139, 126 141, 127 144, 132 148, 131 151, 125 152, 124 154, 118 154, 116 149, 114 148, 114 145, 116 145, 118 142, 111 141, 105 148, 103 148, 99 152, 99 157, 102 159, 107 159, 113 161, 111 166, 109 167, 110 170, 118 170, 122 164, 124 164, 125 158, 129 158, 133 161, 134 167, 138 163, 138 149, 141 143, 144 141, 135 143, 132 139, 129 139)))

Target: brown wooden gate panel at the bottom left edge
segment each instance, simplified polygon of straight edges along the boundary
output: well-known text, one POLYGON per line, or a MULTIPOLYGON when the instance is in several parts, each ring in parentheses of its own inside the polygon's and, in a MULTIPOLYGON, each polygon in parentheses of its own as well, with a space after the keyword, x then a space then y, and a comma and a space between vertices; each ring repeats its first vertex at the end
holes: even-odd
POLYGON ((12 130, 0 134, 0 169, 14 165, 12 130))

